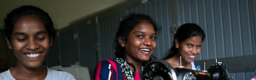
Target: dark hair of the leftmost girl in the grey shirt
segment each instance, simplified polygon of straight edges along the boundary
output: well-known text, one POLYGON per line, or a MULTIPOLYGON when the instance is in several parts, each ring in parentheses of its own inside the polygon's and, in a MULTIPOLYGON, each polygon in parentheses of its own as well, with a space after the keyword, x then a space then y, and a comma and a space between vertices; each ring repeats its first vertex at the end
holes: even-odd
MULTIPOLYGON (((53 27, 53 21, 51 17, 48 15, 47 12, 43 11, 42 9, 32 6, 32 5, 23 5, 19 8, 12 10, 4 19, 4 29, 5 29, 5 36, 7 37, 8 41, 11 42, 11 33, 13 31, 14 25, 17 21, 19 21, 22 17, 35 15, 38 19, 43 23, 45 26, 49 39, 55 37, 55 30, 53 27)), ((51 40, 51 39, 50 39, 51 40)))

